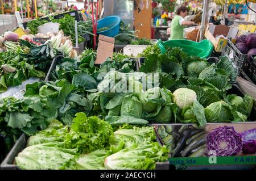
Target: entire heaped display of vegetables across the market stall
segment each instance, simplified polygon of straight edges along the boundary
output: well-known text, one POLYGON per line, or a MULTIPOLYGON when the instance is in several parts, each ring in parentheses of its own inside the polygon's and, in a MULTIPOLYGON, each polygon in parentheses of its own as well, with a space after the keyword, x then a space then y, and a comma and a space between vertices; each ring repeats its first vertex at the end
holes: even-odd
MULTIPOLYGON (((237 86, 228 57, 212 61, 154 44, 137 58, 114 53, 96 65, 96 50, 73 50, 69 20, 56 20, 63 32, 48 33, 41 45, 33 35, 1 38, 2 91, 47 74, 27 84, 23 98, 0 99, 5 151, 14 145, 1 169, 156 169, 212 151, 255 154, 253 97, 237 86)), ((88 22, 81 32, 92 31, 88 22)), ((149 44, 123 28, 116 41, 125 43, 126 33, 129 44, 149 44)))

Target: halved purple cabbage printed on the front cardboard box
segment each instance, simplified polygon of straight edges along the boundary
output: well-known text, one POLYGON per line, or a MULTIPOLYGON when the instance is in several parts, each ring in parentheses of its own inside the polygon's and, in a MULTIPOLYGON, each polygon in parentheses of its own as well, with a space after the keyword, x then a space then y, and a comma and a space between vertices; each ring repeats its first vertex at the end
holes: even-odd
POLYGON ((216 151, 217 156, 236 155, 240 153, 242 146, 242 136, 234 130, 234 127, 218 127, 207 136, 207 149, 216 151))

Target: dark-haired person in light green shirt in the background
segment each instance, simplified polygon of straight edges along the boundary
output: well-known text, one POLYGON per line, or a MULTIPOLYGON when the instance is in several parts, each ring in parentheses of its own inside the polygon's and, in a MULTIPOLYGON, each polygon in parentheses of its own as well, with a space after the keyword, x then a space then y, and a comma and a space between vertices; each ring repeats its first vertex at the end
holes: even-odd
POLYGON ((183 29, 187 25, 195 24, 191 21, 186 21, 184 18, 188 14, 188 9, 185 6, 180 6, 171 23, 171 40, 183 39, 183 29))

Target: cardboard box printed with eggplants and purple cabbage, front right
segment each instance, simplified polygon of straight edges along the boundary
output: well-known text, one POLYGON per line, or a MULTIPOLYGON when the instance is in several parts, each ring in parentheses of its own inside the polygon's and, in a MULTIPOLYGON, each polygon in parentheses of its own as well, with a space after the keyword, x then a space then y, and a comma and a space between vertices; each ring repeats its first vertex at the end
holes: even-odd
POLYGON ((243 146, 247 145, 247 140, 245 140, 245 136, 241 134, 250 132, 250 136, 254 136, 255 138, 255 129, 256 122, 207 123, 204 127, 197 127, 196 124, 155 124, 156 135, 159 137, 160 143, 170 149, 170 164, 184 164, 187 166, 255 166, 256 150, 254 149, 254 153, 246 153, 243 146), (215 135, 213 136, 213 134, 211 134, 211 136, 208 137, 212 132, 214 132, 215 135), (226 135, 224 136, 225 133, 226 135), (233 141, 237 141, 237 145, 240 146, 229 147, 229 145, 225 145, 227 142, 219 142, 222 136, 229 140, 235 138, 233 141), (209 142, 211 143, 210 145, 208 145, 209 142), (223 146, 223 149, 220 147, 211 147, 211 145, 220 145, 223 146), (208 150, 208 148, 212 150, 208 150), (228 149, 228 151, 226 151, 226 149, 228 149), (232 149, 236 149, 233 154, 232 149), (216 157, 216 160, 214 163, 210 164, 209 160, 213 157, 216 157), (249 161, 246 158, 250 158, 249 161))

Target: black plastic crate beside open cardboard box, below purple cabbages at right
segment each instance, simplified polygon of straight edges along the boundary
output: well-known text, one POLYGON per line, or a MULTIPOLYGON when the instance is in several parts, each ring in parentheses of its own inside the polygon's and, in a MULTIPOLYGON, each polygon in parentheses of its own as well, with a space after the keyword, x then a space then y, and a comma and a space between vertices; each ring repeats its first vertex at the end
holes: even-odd
POLYGON ((230 39, 228 39, 222 55, 228 57, 229 61, 232 62, 232 65, 237 70, 237 75, 240 74, 241 69, 246 67, 247 54, 242 54, 230 39))

